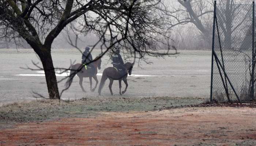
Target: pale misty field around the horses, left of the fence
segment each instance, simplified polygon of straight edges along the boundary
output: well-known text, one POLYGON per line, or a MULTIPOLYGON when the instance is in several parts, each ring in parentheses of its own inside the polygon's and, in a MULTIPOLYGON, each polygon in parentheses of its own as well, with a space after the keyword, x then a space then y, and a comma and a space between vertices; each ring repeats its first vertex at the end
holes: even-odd
MULTIPOLYGON (((95 51, 93 57, 99 52, 95 51)), ((52 50, 53 63, 56 68, 68 68, 70 60, 80 62, 81 54, 76 49, 52 50)), ((42 74, 40 71, 22 69, 29 66, 36 68, 31 61, 39 62, 33 50, 0 49, 0 104, 11 103, 20 100, 34 99, 33 92, 37 92, 45 97, 48 96, 44 76, 15 76, 17 74, 42 74)), ((142 74, 150 76, 128 77, 128 90, 122 97, 209 97, 210 94, 210 51, 180 51, 180 54, 172 57, 153 58, 148 57, 148 61, 153 64, 142 62, 140 66, 133 67, 132 74, 142 74)), ((39 63, 39 65, 41 65, 39 63)), ((102 59, 103 69, 111 66, 108 57, 102 59)), ((57 77, 61 80, 63 77, 57 77)), ((101 76, 98 76, 98 80, 101 76)), ((65 81, 64 81, 65 82, 65 81)), ((59 83, 59 90, 64 88, 64 82, 59 83)), ((109 81, 103 88, 102 95, 110 96, 108 89, 109 81)), ((93 80, 93 85, 95 81, 93 80)), ((84 78, 84 88, 87 93, 83 93, 78 77, 68 91, 64 92, 62 99, 81 99, 83 97, 96 97, 97 92, 90 92, 89 79, 84 78)), ((123 83, 123 88, 125 87, 123 83)), ((113 84, 114 97, 118 95, 118 82, 113 84)), ((97 89, 96 89, 97 91, 97 89)))

